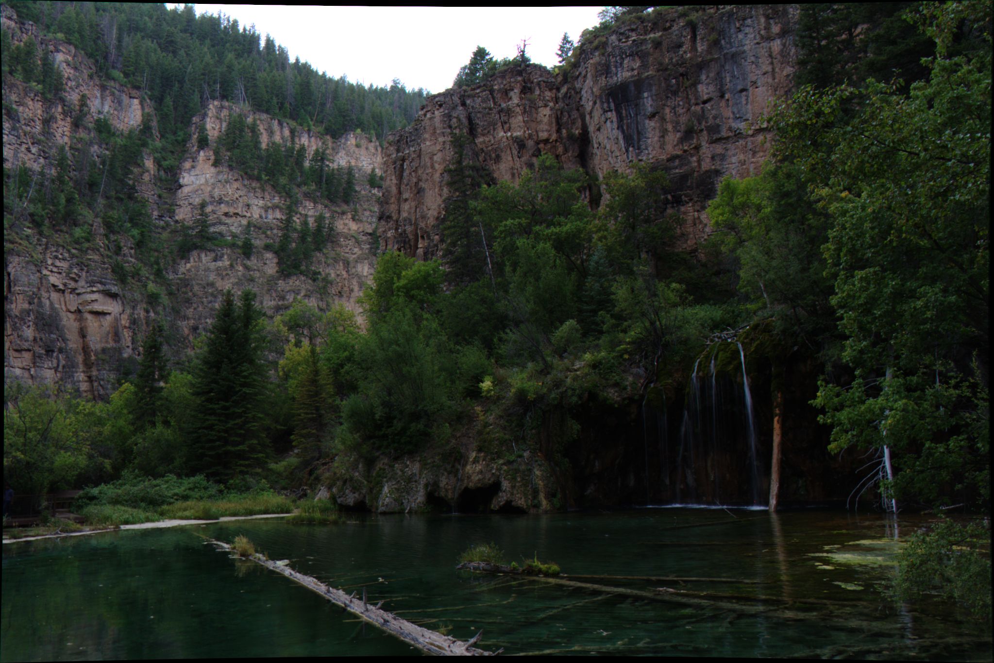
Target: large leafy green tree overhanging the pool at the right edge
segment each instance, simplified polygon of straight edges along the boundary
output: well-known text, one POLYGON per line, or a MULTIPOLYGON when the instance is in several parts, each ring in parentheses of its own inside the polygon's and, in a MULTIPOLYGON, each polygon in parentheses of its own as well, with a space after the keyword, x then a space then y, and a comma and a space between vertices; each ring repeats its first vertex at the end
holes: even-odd
POLYGON ((780 152, 832 219, 824 254, 855 373, 852 386, 822 384, 833 446, 891 445, 906 470, 895 488, 928 502, 990 496, 989 11, 918 15, 938 48, 907 93, 872 80, 804 88, 776 118, 780 152), (961 30, 985 47, 951 56, 961 30))

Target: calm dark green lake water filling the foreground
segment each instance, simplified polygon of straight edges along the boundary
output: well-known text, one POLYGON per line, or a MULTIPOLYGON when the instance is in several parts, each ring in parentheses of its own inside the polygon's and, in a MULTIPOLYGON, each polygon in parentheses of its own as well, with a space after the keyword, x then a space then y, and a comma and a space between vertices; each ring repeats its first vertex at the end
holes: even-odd
MULTIPOLYGON (((46 661, 417 654, 317 594, 201 536, 246 535, 270 559, 506 654, 991 660, 989 624, 882 593, 893 521, 807 511, 647 508, 522 516, 353 515, 131 530, 3 546, 0 659, 46 661), (538 554, 639 595, 454 571, 468 546, 538 554), (700 593, 707 592, 707 596, 700 593)), ((897 534, 917 522, 902 519, 897 534)))

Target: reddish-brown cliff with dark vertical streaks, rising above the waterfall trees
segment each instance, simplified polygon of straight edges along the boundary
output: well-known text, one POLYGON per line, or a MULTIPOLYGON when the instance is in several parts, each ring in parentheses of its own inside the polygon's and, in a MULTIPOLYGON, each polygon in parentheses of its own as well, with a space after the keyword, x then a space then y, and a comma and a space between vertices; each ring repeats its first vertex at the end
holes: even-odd
POLYGON ((721 179, 758 173, 768 153, 757 120, 791 89, 796 16, 795 5, 657 12, 584 44, 558 78, 511 68, 431 96, 387 144, 383 247, 437 254, 455 131, 497 179, 516 182, 541 152, 598 177, 636 161, 661 166, 671 182, 661 195, 693 246, 721 179))

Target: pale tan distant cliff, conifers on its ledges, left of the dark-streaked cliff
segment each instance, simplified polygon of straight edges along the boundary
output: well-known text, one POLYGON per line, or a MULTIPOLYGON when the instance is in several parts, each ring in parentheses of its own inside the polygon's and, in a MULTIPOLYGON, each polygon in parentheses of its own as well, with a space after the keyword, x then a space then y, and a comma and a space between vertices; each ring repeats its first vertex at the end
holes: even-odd
POLYGON ((353 133, 332 140, 225 102, 212 102, 196 116, 191 133, 196 136, 200 124, 206 123, 210 144, 214 146, 236 112, 243 113, 248 121, 255 121, 263 149, 275 140, 284 145, 303 145, 308 158, 324 149, 332 165, 351 164, 360 174, 356 203, 345 207, 301 198, 298 215, 306 215, 313 224, 318 214, 324 214, 329 228, 334 229, 335 241, 325 254, 314 256, 313 267, 321 274, 318 279, 280 275, 275 254, 263 247, 278 241, 287 201, 266 184, 230 168, 215 166, 214 150, 197 149, 196 139, 191 139, 179 169, 179 188, 174 198, 176 221, 190 223, 200 214, 201 202, 206 202, 212 231, 237 240, 243 237, 250 223, 254 249, 251 258, 246 258, 236 247, 200 249, 175 265, 169 275, 179 296, 177 328, 191 340, 205 331, 226 288, 238 291, 251 287, 258 294, 258 303, 270 313, 285 309, 294 298, 321 310, 332 303, 343 303, 358 312, 356 300, 376 265, 379 203, 379 192, 370 189, 362 175, 373 168, 381 170, 380 144, 353 133))

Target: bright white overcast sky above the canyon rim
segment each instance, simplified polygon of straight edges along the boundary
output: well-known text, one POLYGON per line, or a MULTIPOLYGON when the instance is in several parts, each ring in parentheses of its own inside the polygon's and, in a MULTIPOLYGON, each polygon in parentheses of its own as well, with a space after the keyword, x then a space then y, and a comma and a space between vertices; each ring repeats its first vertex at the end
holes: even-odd
MULTIPOLYGON (((176 3, 166 3, 168 7, 176 3)), ((527 39, 533 62, 559 64, 563 33, 574 42, 597 24, 602 7, 325 7, 196 4, 197 14, 224 14, 255 24, 290 52, 329 76, 440 92, 480 45, 495 58, 514 57, 527 39)))

